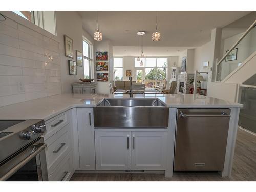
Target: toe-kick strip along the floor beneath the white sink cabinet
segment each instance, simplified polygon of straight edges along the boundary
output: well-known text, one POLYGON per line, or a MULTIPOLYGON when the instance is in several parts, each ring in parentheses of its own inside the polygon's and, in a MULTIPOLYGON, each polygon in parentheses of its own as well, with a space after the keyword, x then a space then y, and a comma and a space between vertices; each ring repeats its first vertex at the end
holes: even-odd
POLYGON ((138 172, 138 170, 75 170, 76 174, 113 174, 113 173, 135 173, 135 174, 164 174, 164 170, 143 170, 143 172, 138 172))

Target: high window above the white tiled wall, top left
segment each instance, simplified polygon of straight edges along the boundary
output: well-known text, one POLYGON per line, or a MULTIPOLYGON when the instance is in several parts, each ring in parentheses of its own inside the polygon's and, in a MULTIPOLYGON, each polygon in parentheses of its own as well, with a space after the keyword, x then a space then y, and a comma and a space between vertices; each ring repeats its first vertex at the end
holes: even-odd
POLYGON ((55 11, 13 11, 17 15, 29 20, 33 24, 57 35, 55 11))

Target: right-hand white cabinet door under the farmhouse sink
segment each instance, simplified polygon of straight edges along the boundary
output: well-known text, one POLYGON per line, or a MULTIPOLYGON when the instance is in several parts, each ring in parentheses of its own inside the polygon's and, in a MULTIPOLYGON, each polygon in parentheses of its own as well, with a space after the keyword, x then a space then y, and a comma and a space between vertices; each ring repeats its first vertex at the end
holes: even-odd
POLYGON ((132 132, 132 170, 166 168, 167 132, 132 132))

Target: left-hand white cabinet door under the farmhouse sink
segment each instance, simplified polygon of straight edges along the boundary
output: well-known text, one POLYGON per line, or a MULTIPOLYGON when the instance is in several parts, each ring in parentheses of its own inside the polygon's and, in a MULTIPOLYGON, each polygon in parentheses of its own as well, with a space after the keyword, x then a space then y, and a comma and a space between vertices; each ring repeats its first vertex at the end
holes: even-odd
POLYGON ((96 170, 131 170, 131 132, 96 131, 96 170))

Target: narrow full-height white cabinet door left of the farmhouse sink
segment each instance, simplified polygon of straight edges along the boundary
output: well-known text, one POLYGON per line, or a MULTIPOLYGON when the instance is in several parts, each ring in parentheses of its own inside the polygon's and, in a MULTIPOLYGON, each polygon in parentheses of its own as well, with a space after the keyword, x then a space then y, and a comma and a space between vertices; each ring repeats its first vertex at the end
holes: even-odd
POLYGON ((80 170, 95 170, 93 108, 77 108, 80 170))

